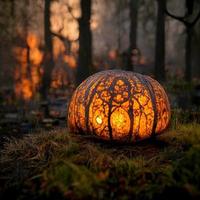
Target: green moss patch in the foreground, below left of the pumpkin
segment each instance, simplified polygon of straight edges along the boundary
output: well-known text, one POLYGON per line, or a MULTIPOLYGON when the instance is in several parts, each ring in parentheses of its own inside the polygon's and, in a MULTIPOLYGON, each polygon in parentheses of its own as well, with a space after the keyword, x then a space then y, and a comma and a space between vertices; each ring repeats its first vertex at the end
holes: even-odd
POLYGON ((56 189, 63 197, 76 198, 97 197, 95 188, 98 185, 96 176, 84 166, 71 162, 60 162, 46 169, 42 174, 41 193, 47 196, 56 189))

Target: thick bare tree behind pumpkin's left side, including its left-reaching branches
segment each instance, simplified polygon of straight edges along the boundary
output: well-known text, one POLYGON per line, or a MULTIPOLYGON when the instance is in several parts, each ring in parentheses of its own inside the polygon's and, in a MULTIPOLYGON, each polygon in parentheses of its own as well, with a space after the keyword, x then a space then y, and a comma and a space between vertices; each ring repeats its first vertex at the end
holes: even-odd
MULTIPOLYGON (((81 0, 80 9, 81 17, 77 18, 73 14, 73 8, 68 2, 65 3, 68 9, 68 13, 71 17, 78 21, 79 24, 79 50, 78 50, 78 64, 76 84, 80 84, 92 73, 92 32, 90 28, 91 23, 91 7, 92 0, 81 0)), ((71 43, 76 40, 70 40, 68 37, 62 35, 64 24, 58 32, 51 32, 52 36, 58 37, 66 47, 68 53, 70 53, 71 43)))

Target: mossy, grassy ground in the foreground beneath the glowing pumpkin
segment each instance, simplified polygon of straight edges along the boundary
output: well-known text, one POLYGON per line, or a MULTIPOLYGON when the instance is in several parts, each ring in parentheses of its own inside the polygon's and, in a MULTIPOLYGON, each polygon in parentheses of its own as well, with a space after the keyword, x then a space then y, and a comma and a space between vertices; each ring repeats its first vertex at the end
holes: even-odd
POLYGON ((132 145, 31 134, 6 142, 0 169, 1 199, 200 199, 200 125, 132 145))

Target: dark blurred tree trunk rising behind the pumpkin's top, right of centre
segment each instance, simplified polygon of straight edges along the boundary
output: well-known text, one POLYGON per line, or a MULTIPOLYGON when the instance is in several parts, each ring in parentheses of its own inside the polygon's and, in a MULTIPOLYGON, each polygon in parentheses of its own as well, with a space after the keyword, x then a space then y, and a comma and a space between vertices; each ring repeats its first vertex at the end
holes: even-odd
POLYGON ((138 4, 139 0, 130 0, 129 3, 130 16, 130 46, 128 52, 128 62, 126 70, 134 71, 134 64, 132 62, 132 50, 137 48, 137 24, 138 24, 138 4))

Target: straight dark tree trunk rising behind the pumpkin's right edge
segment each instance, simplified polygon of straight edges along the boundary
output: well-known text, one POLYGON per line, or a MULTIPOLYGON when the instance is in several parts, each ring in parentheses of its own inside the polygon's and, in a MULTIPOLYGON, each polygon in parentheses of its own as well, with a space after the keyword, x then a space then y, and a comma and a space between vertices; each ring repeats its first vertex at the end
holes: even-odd
POLYGON ((165 81, 165 10, 166 0, 157 0, 157 24, 155 46, 155 77, 165 81))

